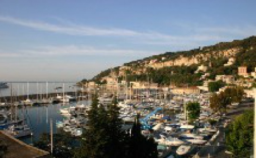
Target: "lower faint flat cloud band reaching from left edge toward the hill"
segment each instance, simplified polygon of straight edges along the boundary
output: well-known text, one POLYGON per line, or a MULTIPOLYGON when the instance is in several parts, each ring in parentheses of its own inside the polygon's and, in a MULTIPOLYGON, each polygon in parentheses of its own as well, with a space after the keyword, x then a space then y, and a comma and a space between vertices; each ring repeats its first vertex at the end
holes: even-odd
POLYGON ((0 50, 0 57, 49 57, 49 56, 150 56, 159 54, 154 51, 141 51, 132 49, 101 49, 86 45, 40 46, 30 49, 6 52, 0 50))

